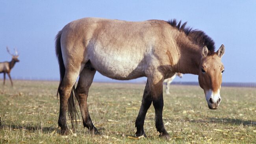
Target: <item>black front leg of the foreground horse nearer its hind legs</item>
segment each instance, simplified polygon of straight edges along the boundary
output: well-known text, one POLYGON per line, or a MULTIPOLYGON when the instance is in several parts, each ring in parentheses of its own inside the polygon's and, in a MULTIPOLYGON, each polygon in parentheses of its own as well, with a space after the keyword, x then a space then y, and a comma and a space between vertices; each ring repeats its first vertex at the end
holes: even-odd
POLYGON ((151 103, 152 103, 152 97, 151 97, 151 93, 150 93, 150 89, 147 81, 144 89, 144 93, 143 93, 141 108, 139 110, 139 114, 135 122, 135 127, 137 129, 135 133, 136 137, 139 137, 141 135, 144 135, 144 137, 147 137, 143 126, 144 126, 144 121, 145 121, 148 108, 150 107, 151 103))

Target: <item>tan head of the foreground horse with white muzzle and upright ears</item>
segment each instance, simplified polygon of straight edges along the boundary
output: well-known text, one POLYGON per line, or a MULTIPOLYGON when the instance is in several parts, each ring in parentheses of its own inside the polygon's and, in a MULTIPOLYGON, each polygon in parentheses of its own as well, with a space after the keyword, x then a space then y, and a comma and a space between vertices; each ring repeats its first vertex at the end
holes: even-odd
POLYGON ((200 87, 204 89, 208 107, 213 110, 217 109, 221 103, 220 90, 224 72, 221 58, 224 49, 224 45, 221 45, 217 52, 210 53, 204 46, 201 51, 202 59, 199 66, 198 81, 200 87))

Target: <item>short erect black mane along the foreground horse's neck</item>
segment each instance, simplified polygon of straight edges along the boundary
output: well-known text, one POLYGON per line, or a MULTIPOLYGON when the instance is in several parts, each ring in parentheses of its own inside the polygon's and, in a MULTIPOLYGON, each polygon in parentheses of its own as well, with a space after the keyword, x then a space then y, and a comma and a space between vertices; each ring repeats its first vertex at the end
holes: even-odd
POLYGON ((168 23, 171 26, 178 29, 178 31, 183 31, 187 36, 189 36, 189 38, 191 38, 198 44, 206 46, 211 53, 214 53, 215 51, 214 41, 203 31, 199 31, 197 29, 192 30, 192 28, 186 27, 187 22, 182 24, 181 20, 180 22, 177 23, 176 19, 173 19, 173 20, 169 20, 168 23))

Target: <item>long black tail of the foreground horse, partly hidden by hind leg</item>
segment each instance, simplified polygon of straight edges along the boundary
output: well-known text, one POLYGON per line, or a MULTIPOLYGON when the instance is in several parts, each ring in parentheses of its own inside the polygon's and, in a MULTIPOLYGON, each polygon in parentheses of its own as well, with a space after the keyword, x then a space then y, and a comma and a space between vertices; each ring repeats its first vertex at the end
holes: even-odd
MULTIPOLYGON (((59 74, 60 74, 60 80, 59 80, 59 86, 58 86, 58 91, 57 91, 57 97, 58 94, 60 94, 60 85, 63 81, 63 78, 65 76, 65 65, 63 62, 63 57, 62 57, 62 53, 61 53, 61 43, 60 43, 60 39, 61 39, 61 34, 62 31, 59 31, 58 34, 56 35, 56 41, 55 41, 55 52, 56 52, 56 57, 58 58, 58 62, 59 62, 59 74)), ((72 91, 70 94, 70 97, 68 99, 68 104, 67 104, 67 108, 69 111, 69 117, 71 119, 71 124, 72 124, 72 128, 73 128, 73 121, 76 122, 77 125, 77 121, 76 121, 76 114, 77 114, 77 110, 76 110, 76 101, 77 100, 77 95, 76 95, 76 91, 75 91, 75 85, 72 87, 72 91)))

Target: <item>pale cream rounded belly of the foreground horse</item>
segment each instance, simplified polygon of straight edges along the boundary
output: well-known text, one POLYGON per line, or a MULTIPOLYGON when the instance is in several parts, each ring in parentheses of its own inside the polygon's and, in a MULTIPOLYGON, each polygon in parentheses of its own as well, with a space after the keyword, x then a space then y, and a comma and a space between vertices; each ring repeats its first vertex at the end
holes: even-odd
POLYGON ((132 55, 115 52, 93 52, 90 62, 100 74, 118 80, 129 80, 145 76, 144 65, 132 55))

